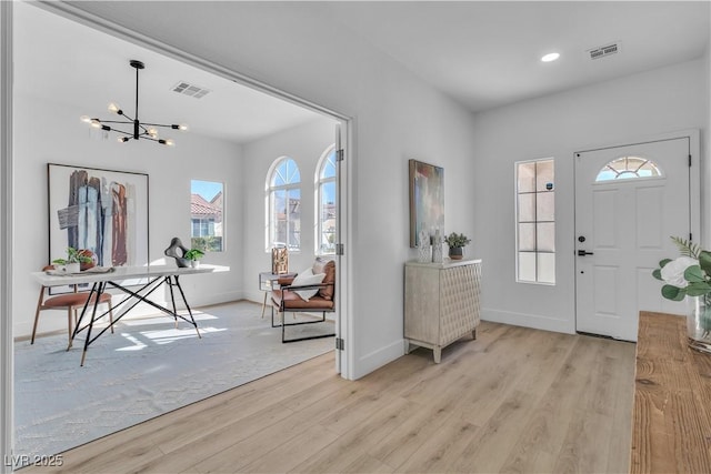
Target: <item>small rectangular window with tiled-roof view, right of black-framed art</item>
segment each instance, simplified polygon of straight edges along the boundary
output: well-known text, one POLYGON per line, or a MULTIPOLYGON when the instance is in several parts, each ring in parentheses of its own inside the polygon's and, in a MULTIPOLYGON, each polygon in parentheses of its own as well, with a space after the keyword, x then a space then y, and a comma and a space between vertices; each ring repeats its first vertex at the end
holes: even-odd
POLYGON ((214 181, 190 181, 190 244, 206 252, 222 252, 223 184, 214 181))

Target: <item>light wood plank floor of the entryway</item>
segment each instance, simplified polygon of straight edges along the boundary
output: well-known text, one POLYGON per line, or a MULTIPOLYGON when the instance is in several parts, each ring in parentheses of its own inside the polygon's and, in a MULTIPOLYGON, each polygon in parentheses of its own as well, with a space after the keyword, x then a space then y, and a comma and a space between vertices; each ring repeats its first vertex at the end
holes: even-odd
POLYGON ((323 355, 63 453, 66 472, 629 472, 634 344, 482 323, 349 382, 323 355))

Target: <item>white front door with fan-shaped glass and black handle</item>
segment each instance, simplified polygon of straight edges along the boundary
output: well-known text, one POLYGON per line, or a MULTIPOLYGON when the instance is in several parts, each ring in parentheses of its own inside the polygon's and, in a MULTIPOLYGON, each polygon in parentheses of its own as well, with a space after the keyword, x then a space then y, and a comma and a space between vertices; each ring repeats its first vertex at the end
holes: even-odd
POLYGON ((652 271, 691 235, 689 138, 575 153, 575 330, 637 341, 644 311, 683 312, 652 271))

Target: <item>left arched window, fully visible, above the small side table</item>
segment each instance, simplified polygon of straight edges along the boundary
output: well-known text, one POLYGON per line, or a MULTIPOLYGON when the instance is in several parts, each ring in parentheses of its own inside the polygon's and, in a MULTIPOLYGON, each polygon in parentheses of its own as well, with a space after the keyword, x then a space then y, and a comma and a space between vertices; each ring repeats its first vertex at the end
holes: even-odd
POLYGON ((274 161, 267 175, 267 249, 301 250, 301 175, 289 157, 274 161))

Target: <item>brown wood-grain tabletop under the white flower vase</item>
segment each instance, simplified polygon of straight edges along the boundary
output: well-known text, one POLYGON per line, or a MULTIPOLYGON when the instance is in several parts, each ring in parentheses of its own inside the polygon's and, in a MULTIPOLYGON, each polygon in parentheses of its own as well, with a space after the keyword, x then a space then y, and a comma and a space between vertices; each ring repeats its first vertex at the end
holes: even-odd
POLYGON ((640 312, 633 473, 711 473, 711 354, 687 346, 685 324, 640 312))

